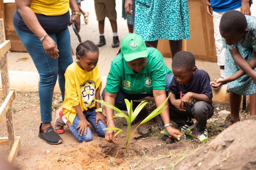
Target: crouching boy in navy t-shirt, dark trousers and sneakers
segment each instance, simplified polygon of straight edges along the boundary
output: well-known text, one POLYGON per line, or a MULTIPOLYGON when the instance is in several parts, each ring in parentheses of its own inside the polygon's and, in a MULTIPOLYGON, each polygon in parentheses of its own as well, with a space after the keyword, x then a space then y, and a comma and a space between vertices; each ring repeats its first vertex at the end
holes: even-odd
POLYGON ((169 86, 170 118, 178 124, 179 130, 192 129, 195 125, 196 137, 208 138, 206 123, 212 117, 214 107, 210 77, 204 70, 195 66, 196 61, 191 52, 176 53, 172 61, 174 78, 169 86))

